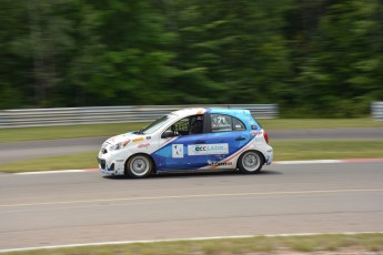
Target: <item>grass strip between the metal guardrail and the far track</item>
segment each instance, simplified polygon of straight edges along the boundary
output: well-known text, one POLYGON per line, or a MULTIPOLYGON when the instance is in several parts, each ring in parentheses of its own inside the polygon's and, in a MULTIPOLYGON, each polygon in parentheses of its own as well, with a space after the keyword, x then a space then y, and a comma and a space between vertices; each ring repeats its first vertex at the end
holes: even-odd
MULTIPOLYGON (((372 119, 275 119, 259 120, 266 130, 278 129, 336 129, 336 128, 383 128, 383 122, 372 119)), ((68 125, 0 129, 0 143, 36 140, 113 136, 139 130, 148 123, 113 123, 94 125, 68 125)))

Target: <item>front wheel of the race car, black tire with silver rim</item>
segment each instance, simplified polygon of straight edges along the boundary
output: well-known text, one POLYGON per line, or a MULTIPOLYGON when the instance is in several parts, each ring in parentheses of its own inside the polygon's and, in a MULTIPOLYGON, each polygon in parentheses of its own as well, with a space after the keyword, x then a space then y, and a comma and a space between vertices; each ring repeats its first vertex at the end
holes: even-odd
POLYGON ((133 178, 142 178, 150 175, 153 170, 152 160, 144 154, 133 155, 127 161, 125 175, 133 178))

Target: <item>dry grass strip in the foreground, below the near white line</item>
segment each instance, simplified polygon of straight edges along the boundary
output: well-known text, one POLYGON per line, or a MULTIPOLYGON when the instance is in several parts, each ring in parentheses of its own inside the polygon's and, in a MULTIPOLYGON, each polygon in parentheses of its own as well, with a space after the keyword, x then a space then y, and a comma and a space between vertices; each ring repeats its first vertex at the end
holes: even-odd
POLYGON ((38 249, 6 254, 158 254, 158 255, 232 255, 232 254, 370 254, 383 251, 383 234, 323 234, 308 236, 254 236, 206 241, 174 241, 121 245, 83 246, 73 248, 38 249))

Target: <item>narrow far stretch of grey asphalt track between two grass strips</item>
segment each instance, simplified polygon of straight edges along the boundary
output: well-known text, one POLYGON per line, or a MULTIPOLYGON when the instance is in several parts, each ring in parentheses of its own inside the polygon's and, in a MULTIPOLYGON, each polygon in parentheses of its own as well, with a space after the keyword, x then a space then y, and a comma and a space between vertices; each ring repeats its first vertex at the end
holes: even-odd
MULTIPOLYGON (((271 140, 375 140, 383 139, 382 128, 270 130, 271 140)), ((0 162, 9 163, 43 156, 98 151, 108 137, 65 139, 0 143, 0 162)))

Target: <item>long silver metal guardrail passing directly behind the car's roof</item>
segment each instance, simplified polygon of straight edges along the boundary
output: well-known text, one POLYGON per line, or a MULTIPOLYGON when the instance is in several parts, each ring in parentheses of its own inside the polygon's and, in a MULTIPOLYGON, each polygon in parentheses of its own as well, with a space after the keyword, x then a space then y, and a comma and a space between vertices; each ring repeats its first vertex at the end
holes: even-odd
POLYGON ((279 115, 278 104, 132 105, 3 110, 0 111, 0 129, 150 122, 169 112, 194 106, 248 109, 256 119, 274 119, 279 115))

